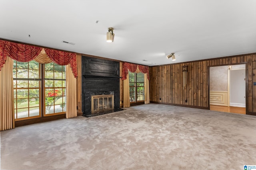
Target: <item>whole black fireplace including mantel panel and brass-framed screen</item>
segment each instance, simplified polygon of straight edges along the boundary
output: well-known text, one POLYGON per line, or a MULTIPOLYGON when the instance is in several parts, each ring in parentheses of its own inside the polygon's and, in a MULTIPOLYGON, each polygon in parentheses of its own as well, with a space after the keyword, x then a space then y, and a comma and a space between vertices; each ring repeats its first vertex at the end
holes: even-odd
POLYGON ((119 110, 119 62, 83 56, 81 96, 86 117, 119 110))

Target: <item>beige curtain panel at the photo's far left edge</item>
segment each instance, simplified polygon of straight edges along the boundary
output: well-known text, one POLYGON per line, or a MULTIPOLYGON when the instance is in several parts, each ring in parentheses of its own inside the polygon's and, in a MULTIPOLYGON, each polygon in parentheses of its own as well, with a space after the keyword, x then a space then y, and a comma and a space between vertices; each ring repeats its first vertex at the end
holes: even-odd
POLYGON ((7 57, 0 71, 0 130, 4 131, 15 127, 13 103, 13 60, 7 57))

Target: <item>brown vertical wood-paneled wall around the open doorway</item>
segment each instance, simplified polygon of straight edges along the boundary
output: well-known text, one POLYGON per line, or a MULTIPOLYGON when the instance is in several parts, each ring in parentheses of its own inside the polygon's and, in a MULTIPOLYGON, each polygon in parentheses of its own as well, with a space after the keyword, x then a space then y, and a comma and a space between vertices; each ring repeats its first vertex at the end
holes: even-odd
POLYGON ((256 115, 256 53, 150 67, 150 102, 210 109, 209 67, 246 64, 246 114, 256 115), (188 66, 183 90, 182 66, 188 66), (186 102, 187 100, 187 102, 186 102))

